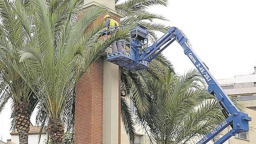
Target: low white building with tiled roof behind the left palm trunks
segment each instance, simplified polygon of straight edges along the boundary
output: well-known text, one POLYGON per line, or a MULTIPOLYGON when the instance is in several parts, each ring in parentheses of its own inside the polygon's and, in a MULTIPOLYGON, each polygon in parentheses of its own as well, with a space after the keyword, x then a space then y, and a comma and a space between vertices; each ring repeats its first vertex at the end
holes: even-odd
MULTIPOLYGON (((28 144, 45 144, 45 139, 46 139, 46 133, 45 130, 41 135, 40 138, 40 143, 38 143, 38 138, 39 138, 39 133, 40 129, 42 126, 30 126, 29 129, 29 139, 28 139, 28 144)), ((8 144, 19 144, 19 135, 18 131, 13 131, 10 133, 11 134, 11 139, 8 140, 8 144)))

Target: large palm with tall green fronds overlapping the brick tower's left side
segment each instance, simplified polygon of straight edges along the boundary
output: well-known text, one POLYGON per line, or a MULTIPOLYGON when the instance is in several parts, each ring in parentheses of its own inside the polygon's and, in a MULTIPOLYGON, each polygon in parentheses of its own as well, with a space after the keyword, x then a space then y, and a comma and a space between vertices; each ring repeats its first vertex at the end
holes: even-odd
POLYGON ((64 134, 63 110, 77 81, 113 41, 126 38, 129 30, 98 42, 105 26, 93 22, 108 11, 104 6, 84 11, 81 0, 34 0, 31 5, 33 40, 19 48, 26 67, 17 71, 33 90, 40 90, 38 119, 47 124, 51 143, 59 144, 64 134), (79 21, 78 15, 82 15, 79 21))

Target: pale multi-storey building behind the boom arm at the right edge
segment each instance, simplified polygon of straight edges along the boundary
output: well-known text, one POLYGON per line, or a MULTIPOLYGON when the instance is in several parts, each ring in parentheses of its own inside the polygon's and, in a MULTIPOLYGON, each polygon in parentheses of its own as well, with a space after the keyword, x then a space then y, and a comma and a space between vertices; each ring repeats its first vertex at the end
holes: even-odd
MULTIPOLYGON (((256 66, 255 72, 248 75, 234 76, 232 79, 217 80, 225 93, 237 99, 243 106, 249 108, 245 112, 252 117, 250 127, 256 127, 256 66)), ((255 144, 255 131, 237 134, 228 140, 228 144, 255 144)))

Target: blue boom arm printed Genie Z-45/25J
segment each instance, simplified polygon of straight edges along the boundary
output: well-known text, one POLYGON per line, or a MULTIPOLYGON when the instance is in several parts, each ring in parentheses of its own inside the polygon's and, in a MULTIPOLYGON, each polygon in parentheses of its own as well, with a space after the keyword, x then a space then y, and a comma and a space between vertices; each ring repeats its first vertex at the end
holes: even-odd
POLYGON ((188 45, 186 36, 178 28, 172 27, 157 42, 148 47, 145 53, 141 54, 140 61, 152 61, 175 40, 182 46, 184 53, 189 57, 197 70, 202 74, 205 81, 208 83, 208 92, 216 97, 216 100, 220 104, 222 112, 226 117, 225 121, 209 132, 209 134, 204 136, 196 144, 206 144, 229 125, 232 127, 232 130, 214 144, 222 144, 230 137, 235 136, 238 133, 249 131, 249 121, 251 121, 251 118, 248 116, 248 114, 241 112, 224 93, 223 89, 219 86, 218 82, 211 75, 207 67, 188 45), (161 48, 162 46, 163 48, 161 48))

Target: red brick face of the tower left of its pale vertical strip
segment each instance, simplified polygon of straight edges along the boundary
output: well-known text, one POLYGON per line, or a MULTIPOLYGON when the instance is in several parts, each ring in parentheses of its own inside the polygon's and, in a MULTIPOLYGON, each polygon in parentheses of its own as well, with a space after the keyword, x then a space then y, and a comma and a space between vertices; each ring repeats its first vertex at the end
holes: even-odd
POLYGON ((103 57, 83 75, 76 90, 75 144, 102 144, 103 57))

